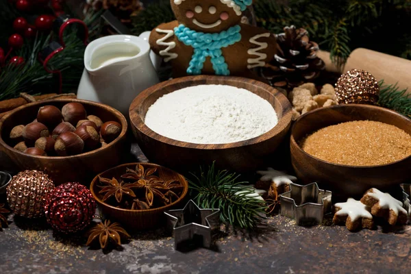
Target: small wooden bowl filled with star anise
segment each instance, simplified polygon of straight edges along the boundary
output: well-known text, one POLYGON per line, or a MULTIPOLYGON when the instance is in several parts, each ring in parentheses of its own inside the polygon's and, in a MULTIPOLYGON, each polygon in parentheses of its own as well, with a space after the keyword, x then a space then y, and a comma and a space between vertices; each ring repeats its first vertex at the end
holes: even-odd
POLYGON ((188 183, 164 166, 131 163, 100 173, 90 190, 108 219, 132 229, 151 229, 163 225, 164 211, 186 197, 188 183))

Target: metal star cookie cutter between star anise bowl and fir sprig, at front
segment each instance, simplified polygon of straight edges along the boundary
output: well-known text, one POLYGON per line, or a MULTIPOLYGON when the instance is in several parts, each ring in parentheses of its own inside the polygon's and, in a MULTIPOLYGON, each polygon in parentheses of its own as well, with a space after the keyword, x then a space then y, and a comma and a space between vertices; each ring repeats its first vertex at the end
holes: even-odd
POLYGON ((164 212, 173 229, 174 248, 195 236, 202 236, 203 247, 211 246, 211 231, 219 225, 219 209, 201 209, 190 200, 182 210, 164 212))

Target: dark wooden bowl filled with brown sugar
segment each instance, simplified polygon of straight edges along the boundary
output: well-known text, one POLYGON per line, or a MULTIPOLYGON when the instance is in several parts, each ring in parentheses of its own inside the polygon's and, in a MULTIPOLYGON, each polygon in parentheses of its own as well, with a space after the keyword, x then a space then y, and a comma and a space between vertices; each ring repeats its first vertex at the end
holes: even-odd
POLYGON ((411 135, 411 120, 393 110, 373 105, 356 104, 319 108, 300 116, 292 127, 290 138, 292 167, 295 169, 297 177, 304 183, 317 182, 322 188, 332 190, 333 197, 361 197, 369 188, 378 188, 382 191, 390 190, 393 186, 398 186, 398 184, 411 179, 409 172, 411 157, 407 152, 410 149, 408 135, 411 135), (362 122, 346 123, 353 121, 362 122), (397 128, 379 123, 366 123, 365 121, 380 122, 397 128), (339 125, 341 123, 345 124, 339 125), (338 126, 329 127, 332 125, 338 126), (385 136, 397 137, 386 140, 384 136, 381 136, 382 134, 378 136, 377 130, 373 128, 375 126, 382 127, 384 130, 394 129, 385 136), (358 136, 349 135, 347 129, 354 127, 362 127, 363 132, 357 132, 360 134, 358 136), (326 136, 328 138, 338 136, 339 129, 341 134, 338 137, 338 142, 331 146, 330 140, 323 139, 321 135, 318 135, 320 129, 324 135, 329 134, 326 136), (317 135, 310 136, 314 132, 317 135), (318 153, 313 151, 312 147, 310 147, 310 153, 305 151, 308 149, 304 142, 312 137, 318 138, 310 143, 310 146, 318 146, 318 153), (341 142, 341 139, 345 139, 345 141, 341 142), (380 152, 379 158, 373 160, 369 155, 364 155, 366 149, 364 149, 361 140, 364 142, 372 141, 372 147, 379 148, 379 151, 371 151, 371 153, 378 155, 380 152), (387 142, 391 145, 384 147, 383 144, 387 142), (406 151, 401 151, 401 149, 406 151))

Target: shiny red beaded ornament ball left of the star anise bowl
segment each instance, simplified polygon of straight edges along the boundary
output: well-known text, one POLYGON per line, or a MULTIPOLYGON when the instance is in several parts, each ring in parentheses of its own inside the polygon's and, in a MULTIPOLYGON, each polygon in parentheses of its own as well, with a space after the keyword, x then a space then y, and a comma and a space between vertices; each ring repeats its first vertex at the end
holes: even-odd
POLYGON ((66 183, 47 195, 44 208, 47 223, 53 229, 73 233, 90 224, 96 211, 96 202, 86 186, 66 183))

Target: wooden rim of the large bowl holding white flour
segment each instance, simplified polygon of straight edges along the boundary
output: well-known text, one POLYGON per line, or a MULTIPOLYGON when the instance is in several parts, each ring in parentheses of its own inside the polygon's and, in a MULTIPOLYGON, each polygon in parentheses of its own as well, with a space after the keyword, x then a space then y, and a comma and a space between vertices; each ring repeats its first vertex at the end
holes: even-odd
MULTIPOLYGON (((192 149, 206 149, 206 150, 214 150, 214 149, 234 149, 236 147, 244 147, 247 145, 255 145, 260 142, 264 142, 266 140, 269 140, 270 138, 273 138, 274 136, 284 132, 288 128, 288 126, 291 124, 291 119, 292 119, 292 112, 291 112, 291 104, 288 101, 287 97, 282 94, 282 92, 279 92, 276 88, 273 88, 272 86, 269 86, 268 84, 264 84, 263 82, 257 81, 257 80, 251 80, 254 82, 258 82, 262 88, 264 88, 264 92, 267 92, 269 96, 272 97, 284 97, 284 100, 280 101, 279 99, 275 98, 275 100, 279 101, 279 103, 282 105, 283 112, 285 113, 284 116, 282 116, 281 119, 278 119, 277 125, 275 125, 272 129, 270 129, 268 132, 265 132, 264 134, 260 136, 256 136, 251 139, 247 140, 242 140, 238 142, 227 142, 223 144, 197 144, 195 142, 184 142, 180 140, 175 140, 166 136, 162 136, 161 134, 158 134, 157 132, 154 132, 152 129, 150 129, 144 121, 142 121, 141 116, 140 116, 140 110, 138 109, 139 106, 142 104, 142 102, 149 97, 153 92, 157 91, 159 89, 159 86, 161 86, 161 89, 167 88, 169 86, 173 86, 175 84, 179 84, 182 82, 203 82, 204 78, 199 78, 197 77, 206 77, 208 79, 211 79, 212 81, 220 80, 220 84, 225 84, 227 86, 234 86, 232 84, 227 84, 227 83, 233 83, 233 82, 249 82, 251 79, 244 78, 244 77, 233 77, 233 76, 216 76, 216 75, 197 75, 197 76, 186 76, 186 77, 179 77, 175 79, 170 79, 166 82, 160 82, 159 84, 155 84, 154 86, 151 86, 142 92, 140 92, 139 95, 134 98, 132 101, 130 108, 129 108, 129 116, 130 116, 130 122, 136 129, 138 129, 142 134, 145 134, 146 136, 149 136, 150 138, 153 138, 159 142, 165 142, 166 144, 173 145, 176 147, 185 147, 185 148, 192 148, 192 149), (221 79, 223 81, 221 81, 221 79), (132 112, 136 112, 137 115, 137 121, 134 121, 132 117, 132 112), (281 123, 280 123, 281 121, 281 123)), ((217 83, 218 84, 218 83, 217 83)), ((252 84, 250 82, 249 84, 252 84)), ((195 85, 192 85, 195 86, 195 85)), ((238 87, 238 86, 236 86, 238 87)), ((175 90, 173 90, 175 91, 175 90)), ((171 91, 171 92, 173 92, 171 91)), ((251 90, 249 90, 252 92, 251 90)), ((169 93, 171 93, 169 92, 169 93)), ((167 93, 168 94, 168 93, 167 93)), ((253 94, 255 94, 253 92, 253 94)), ((258 95, 257 95, 258 96, 258 95)), ((263 98, 264 99, 264 98, 263 98)), ((267 100, 266 100, 267 101, 267 100)))

